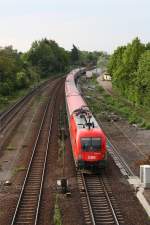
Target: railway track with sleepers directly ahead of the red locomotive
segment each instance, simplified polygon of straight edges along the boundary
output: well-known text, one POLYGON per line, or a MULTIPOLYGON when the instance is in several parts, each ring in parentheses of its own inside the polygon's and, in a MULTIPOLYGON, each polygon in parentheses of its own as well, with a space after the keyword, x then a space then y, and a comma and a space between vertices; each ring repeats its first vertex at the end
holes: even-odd
POLYGON ((124 219, 105 175, 77 174, 85 223, 124 225, 124 219))

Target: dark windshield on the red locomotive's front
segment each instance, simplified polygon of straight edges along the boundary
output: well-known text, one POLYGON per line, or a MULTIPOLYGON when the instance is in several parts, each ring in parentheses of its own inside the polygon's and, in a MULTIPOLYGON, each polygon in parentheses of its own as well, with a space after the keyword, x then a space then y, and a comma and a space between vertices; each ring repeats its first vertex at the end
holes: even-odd
POLYGON ((98 151, 101 149, 100 138, 81 138, 82 150, 85 152, 98 151))

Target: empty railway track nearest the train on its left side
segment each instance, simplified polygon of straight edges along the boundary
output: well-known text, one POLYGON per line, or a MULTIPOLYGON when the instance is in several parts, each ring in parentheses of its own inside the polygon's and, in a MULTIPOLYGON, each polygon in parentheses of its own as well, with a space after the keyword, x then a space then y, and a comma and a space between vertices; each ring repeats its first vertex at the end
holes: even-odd
POLYGON ((49 99, 44 111, 11 225, 35 225, 38 222, 47 155, 51 138, 55 100, 60 84, 61 81, 59 80, 59 82, 53 87, 51 98, 49 99))

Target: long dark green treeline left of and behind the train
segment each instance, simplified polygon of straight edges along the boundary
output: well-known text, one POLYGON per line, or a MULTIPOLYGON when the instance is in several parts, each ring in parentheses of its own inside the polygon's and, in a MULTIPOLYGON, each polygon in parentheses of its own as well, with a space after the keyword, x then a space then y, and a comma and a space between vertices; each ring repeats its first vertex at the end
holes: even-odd
POLYGON ((0 100, 18 89, 37 84, 42 78, 77 66, 96 65, 101 53, 80 51, 75 45, 66 51, 47 39, 33 42, 26 53, 17 52, 12 46, 0 48, 0 100))

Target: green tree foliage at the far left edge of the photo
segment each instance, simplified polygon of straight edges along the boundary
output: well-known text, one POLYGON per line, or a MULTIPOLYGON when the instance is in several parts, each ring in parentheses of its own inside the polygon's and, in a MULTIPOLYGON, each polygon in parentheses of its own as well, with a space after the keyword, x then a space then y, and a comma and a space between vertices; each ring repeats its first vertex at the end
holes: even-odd
POLYGON ((11 46, 0 49, 0 95, 11 96, 16 90, 29 87, 33 80, 21 53, 11 46))

